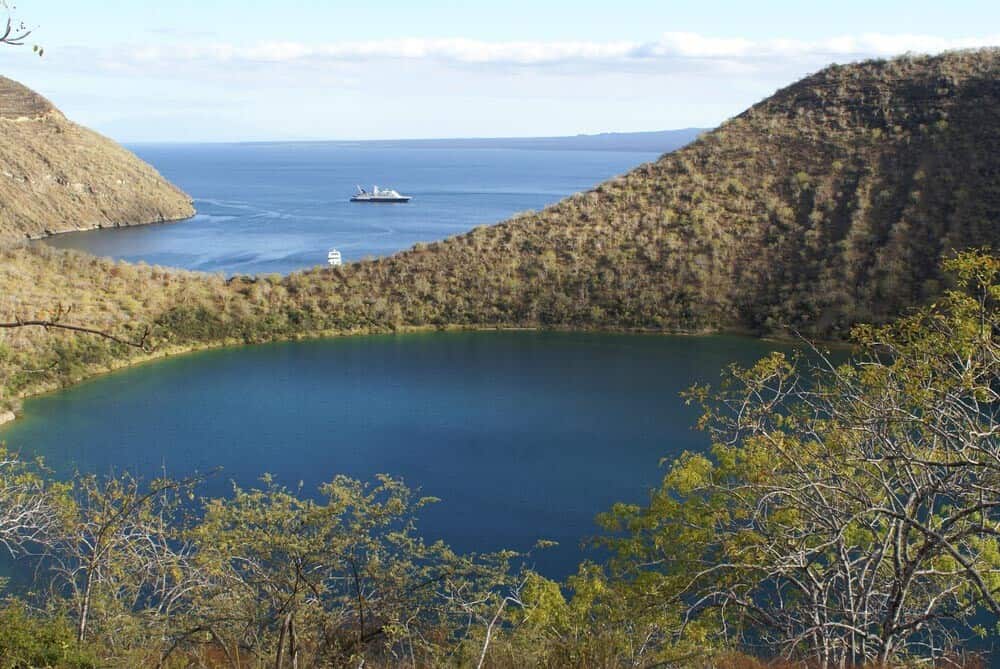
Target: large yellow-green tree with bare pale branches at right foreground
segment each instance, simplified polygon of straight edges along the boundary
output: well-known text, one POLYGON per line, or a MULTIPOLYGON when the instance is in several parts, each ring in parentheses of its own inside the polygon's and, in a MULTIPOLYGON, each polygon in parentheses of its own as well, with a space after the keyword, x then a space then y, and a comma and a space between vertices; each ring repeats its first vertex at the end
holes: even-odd
POLYGON ((856 357, 774 354, 703 403, 646 507, 605 519, 612 572, 679 607, 682 639, 777 649, 817 666, 941 659, 1000 614, 1000 260, 962 253, 957 288, 856 357))

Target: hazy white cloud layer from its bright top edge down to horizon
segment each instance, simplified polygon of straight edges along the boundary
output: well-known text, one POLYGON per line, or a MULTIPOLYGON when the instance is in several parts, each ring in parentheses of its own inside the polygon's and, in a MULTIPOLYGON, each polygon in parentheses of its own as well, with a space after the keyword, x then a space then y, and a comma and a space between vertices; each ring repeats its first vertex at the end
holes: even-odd
POLYGON ((0 69, 70 118, 125 139, 513 136, 709 126, 831 62, 997 44, 1000 35, 881 33, 248 44, 206 38, 51 44, 44 58, 0 50, 0 69))

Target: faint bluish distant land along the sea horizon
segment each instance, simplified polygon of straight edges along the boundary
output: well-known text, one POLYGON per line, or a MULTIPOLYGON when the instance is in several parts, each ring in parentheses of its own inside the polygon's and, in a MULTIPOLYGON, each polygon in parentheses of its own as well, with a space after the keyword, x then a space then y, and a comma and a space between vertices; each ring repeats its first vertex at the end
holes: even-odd
MULTIPOLYGON (((707 128, 655 132, 606 132, 569 137, 472 137, 458 139, 387 139, 334 144, 391 149, 528 149, 552 151, 639 151, 666 153, 690 144, 707 128)), ((260 143, 260 142, 254 142, 260 143)))

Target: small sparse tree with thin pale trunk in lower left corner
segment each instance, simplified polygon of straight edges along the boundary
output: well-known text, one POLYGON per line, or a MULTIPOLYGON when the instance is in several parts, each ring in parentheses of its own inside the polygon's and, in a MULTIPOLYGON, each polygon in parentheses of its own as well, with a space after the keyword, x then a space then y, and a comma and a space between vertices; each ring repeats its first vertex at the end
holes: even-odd
POLYGON ((191 593, 205 585, 183 536, 184 505, 200 480, 86 475, 64 488, 43 567, 53 600, 66 601, 78 643, 98 638, 127 653, 180 624, 191 593))

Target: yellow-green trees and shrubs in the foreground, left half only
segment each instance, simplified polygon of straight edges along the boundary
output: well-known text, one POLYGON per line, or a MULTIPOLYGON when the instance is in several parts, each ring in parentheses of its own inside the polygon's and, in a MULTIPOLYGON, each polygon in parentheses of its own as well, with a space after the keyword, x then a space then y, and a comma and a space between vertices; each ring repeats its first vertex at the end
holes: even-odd
MULTIPOLYGON (((265 477, 196 514, 195 480, 22 477, 43 501, 3 500, 31 530, 5 538, 48 580, 38 612, 15 601, 0 619, 52 630, 33 634, 50 654, 99 648, 115 666, 465 665, 530 574, 513 553, 423 542, 415 513, 433 500, 389 477, 337 477, 318 499, 265 477)), ((19 653, 41 652, 18 639, 19 653)))

